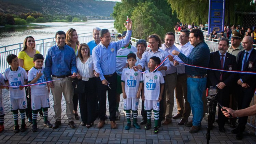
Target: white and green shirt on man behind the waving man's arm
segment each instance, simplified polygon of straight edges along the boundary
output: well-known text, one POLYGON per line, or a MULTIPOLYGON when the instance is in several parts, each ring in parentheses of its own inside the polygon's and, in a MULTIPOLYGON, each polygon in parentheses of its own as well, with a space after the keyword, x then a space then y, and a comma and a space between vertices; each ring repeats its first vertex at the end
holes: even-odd
POLYGON ((137 48, 130 44, 127 48, 122 47, 118 49, 118 51, 116 52, 116 73, 119 76, 122 75, 122 71, 125 67, 125 63, 128 63, 127 55, 134 52, 137 52, 137 48))

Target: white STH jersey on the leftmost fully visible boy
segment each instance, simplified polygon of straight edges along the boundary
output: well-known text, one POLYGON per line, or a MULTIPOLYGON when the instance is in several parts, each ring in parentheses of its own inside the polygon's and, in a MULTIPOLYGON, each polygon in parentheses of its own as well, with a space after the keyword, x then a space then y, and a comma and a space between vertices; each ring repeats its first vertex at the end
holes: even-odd
MULTIPOLYGON (((4 80, 8 80, 10 86, 24 85, 25 80, 27 79, 27 72, 22 67, 18 67, 16 71, 12 71, 11 68, 8 68, 4 71, 4 80)), ((9 87, 9 92, 11 99, 19 99, 26 97, 25 88, 20 90, 18 87, 9 87)))

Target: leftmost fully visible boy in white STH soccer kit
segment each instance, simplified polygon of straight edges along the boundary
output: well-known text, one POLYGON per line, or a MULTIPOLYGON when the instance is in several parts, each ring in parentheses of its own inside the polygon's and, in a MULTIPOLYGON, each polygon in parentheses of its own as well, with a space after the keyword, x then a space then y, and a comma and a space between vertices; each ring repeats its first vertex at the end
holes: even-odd
POLYGON ((27 99, 25 88, 21 85, 26 85, 28 75, 25 69, 19 67, 18 57, 14 54, 10 54, 6 57, 6 61, 11 66, 4 71, 4 80, 6 89, 10 92, 11 112, 13 112, 14 128, 15 133, 21 131, 24 132, 27 129, 25 124, 25 109, 27 109, 27 99), (17 87, 8 87, 17 86, 17 87), (18 125, 18 110, 22 119, 22 125, 19 129, 18 125))

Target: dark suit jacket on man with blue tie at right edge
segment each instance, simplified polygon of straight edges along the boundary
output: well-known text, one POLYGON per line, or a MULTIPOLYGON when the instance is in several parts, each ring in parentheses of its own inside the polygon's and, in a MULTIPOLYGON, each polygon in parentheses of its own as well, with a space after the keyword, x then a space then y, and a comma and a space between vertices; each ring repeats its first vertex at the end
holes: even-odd
MULTIPOLYGON (((238 54, 238 70, 242 69, 242 61, 244 57, 245 50, 239 52, 238 54)), ((253 48, 247 62, 244 71, 256 72, 256 50, 253 48), (249 62, 253 63, 252 68, 249 68, 249 62)), ((256 75, 255 74, 239 74, 239 79, 241 78, 244 83, 247 83, 250 87, 255 89, 256 86, 256 75)), ((238 80, 239 80, 238 79, 238 80)))

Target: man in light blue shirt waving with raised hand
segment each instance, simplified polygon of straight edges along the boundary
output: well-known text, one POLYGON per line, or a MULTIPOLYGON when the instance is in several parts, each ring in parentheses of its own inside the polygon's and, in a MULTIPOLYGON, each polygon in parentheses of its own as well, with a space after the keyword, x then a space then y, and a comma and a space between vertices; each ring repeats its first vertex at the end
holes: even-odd
MULTIPOLYGON (((125 25, 125 24, 124 24, 125 25)), ((115 106, 116 106, 116 52, 121 47, 129 43, 131 38, 132 22, 127 25, 127 34, 125 39, 117 42, 110 42, 111 35, 108 29, 100 31, 100 43, 93 49, 94 69, 100 76, 97 78, 98 97, 99 97, 99 118, 98 128, 105 124, 106 114, 106 91, 108 90, 109 113, 111 128, 116 129, 115 123, 115 106)))

